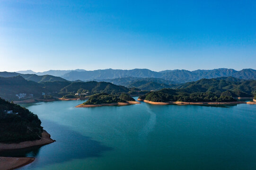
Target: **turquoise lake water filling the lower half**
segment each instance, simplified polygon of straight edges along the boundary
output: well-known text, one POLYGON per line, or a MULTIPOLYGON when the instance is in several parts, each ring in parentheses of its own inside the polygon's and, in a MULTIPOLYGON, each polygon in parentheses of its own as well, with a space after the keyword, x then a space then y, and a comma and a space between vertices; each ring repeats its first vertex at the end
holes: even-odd
POLYGON ((256 170, 256 105, 81 102, 24 104, 57 142, 0 155, 36 158, 20 170, 256 170))

